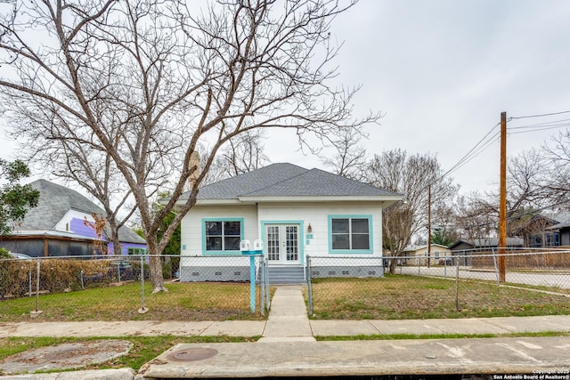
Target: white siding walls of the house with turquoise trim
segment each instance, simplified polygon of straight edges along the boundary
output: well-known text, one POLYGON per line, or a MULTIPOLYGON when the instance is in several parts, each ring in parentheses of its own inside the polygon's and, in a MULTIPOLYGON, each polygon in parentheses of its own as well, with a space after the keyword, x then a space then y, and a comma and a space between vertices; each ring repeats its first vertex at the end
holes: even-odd
MULTIPOLYGON (((224 257, 204 252, 203 223, 207 220, 243 221, 242 239, 253 243, 256 239, 265 239, 265 226, 268 224, 299 225, 300 264, 305 265, 306 255, 339 260, 321 261, 314 268, 318 277, 328 277, 333 273, 338 277, 347 276, 383 276, 381 261, 358 260, 359 257, 370 259, 382 257, 382 208, 379 202, 297 202, 297 203, 260 203, 257 206, 194 206, 182 221, 181 231, 181 271, 182 281, 238 280, 248 281, 249 266, 246 257, 240 252, 229 252, 224 257), (366 217, 370 221, 370 252, 346 253, 331 252, 330 216, 366 217), (308 226, 312 231, 308 233, 308 226), (227 255, 235 255, 228 257, 227 255), (209 257, 208 257, 209 256, 209 257), (343 257, 349 256, 353 260, 343 257), (356 260, 354 260, 356 258, 356 260), (351 267, 347 270, 346 267, 351 267)), ((265 241, 264 241, 265 244, 265 241)), ((217 253, 219 254, 219 253, 217 253)))

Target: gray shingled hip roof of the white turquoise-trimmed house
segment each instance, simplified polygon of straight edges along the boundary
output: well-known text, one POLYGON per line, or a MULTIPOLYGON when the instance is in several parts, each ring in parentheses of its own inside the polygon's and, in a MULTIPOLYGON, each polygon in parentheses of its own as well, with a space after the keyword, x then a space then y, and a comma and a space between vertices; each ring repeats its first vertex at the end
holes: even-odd
MULTIPOLYGON (((187 198, 185 193, 183 198, 187 198)), ((199 189, 198 199, 240 197, 399 196, 319 169, 272 164, 199 189)))

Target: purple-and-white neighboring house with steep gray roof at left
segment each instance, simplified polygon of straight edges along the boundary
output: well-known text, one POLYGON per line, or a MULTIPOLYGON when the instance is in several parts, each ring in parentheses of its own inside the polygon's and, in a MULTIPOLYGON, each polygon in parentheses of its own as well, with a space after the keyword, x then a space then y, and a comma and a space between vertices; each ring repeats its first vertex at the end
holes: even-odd
MULTIPOLYGON (((85 219, 94 222, 92 214, 104 214, 101 207, 53 182, 37 180, 30 185, 39 190, 39 203, 12 235, 0 237, 0 247, 34 257, 113 254, 112 243, 107 239, 97 243, 94 228, 85 223, 85 219)), ((146 251, 146 241, 132 230, 121 227, 118 233, 123 255, 146 251)))

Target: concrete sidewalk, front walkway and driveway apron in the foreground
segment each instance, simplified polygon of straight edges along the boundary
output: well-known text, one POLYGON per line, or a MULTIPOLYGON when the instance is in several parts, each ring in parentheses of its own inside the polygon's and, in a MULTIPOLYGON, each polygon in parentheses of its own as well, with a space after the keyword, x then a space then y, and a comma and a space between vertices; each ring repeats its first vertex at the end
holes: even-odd
MULTIPOLYGON (((315 336, 570 332, 570 316, 310 320, 300 286, 278 287, 266 321, 0 323, 5 336, 261 336, 256 343, 179 344, 143 366, 0 379, 526 374, 570 379, 570 337, 317 341, 315 336), (57 376, 56 376, 57 375, 57 376)), ((493 378, 493 377, 492 377, 493 378)), ((512 377, 511 377, 512 378, 512 377)))

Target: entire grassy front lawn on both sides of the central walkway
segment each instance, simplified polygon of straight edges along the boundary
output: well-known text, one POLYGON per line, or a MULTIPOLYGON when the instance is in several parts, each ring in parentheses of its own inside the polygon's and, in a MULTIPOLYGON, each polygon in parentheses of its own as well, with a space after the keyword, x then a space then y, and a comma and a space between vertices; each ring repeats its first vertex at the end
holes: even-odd
MULTIPOLYGON (((249 311, 249 284, 169 283, 168 292, 145 287, 142 306, 138 282, 39 297, 36 320, 228 320, 263 319, 249 311)), ((428 319, 570 314, 563 295, 460 281, 459 310, 455 282, 417 276, 380 279, 319 279, 313 283, 315 319, 428 319)), ((258 297, 257 297, 258 298, 258 297)), ((257 310, 259 299, 256 300, 257 310)), ((0 321, 29 320, 36 298, 0 301, 0 321)))

